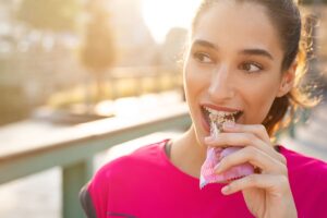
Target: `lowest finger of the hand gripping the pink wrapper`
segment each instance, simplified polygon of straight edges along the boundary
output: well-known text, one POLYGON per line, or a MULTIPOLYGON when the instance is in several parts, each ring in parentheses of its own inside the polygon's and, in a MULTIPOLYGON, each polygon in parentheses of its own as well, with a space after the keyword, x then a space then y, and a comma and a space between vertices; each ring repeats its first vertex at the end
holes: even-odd
POLYGON ((281 174, 250 174, 223 186, 221 192, 229 195, 250 187, 264 189, 276 197, 282 197, 289 190, 289 180, 281 174))

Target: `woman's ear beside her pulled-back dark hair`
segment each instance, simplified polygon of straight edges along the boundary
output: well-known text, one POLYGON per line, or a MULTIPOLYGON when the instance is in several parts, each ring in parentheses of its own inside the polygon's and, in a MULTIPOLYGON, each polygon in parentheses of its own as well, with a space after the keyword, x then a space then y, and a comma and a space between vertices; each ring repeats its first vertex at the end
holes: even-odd
POLYGON ((292 65, 286 72, 282 73, 281 82, 276 97, 282 97, 292 89, 294 85, 296 68, 298 62, 294 61, 292 65))

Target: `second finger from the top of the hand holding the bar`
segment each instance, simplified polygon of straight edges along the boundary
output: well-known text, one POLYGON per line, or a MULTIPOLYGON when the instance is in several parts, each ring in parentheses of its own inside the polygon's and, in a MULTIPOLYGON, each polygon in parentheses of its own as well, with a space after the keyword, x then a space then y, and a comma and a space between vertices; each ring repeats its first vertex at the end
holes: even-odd
POLYGON ((213 147, 254 146, 286 165, 286 158, 281 154, 252 133, 219 133, 215 138, 206 138, 206 143, 213 147))

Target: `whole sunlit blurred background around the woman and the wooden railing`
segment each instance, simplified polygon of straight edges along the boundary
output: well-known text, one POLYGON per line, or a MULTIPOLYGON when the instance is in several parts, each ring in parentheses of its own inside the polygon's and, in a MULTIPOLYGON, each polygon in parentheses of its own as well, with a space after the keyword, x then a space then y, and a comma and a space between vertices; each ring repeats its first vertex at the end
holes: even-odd
MULTIPOLYGON (((303 2, 314 43, 303 85, 322 104, 280 141, 327 159, 327 1, 303 2)), ((41 143, 49 132, 60 137, 131 108, 182 102, 181 59, 198 3, 0 0, 0 165, 8 150, 27 149, 31 137, 41 143)), ((53 168, 0 184, 0 217, 61 217, 61 177, 53 168)))

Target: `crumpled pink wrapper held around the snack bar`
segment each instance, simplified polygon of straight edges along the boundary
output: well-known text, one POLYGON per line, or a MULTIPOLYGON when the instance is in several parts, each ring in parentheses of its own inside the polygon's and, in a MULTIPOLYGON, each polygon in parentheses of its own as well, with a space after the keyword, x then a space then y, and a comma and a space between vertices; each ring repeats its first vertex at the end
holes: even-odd
MULTIPOLYGON (((220 131, 217 130, 217 128, 211 129, 216 129, 210 130, 211 135, 219 134, 220 131)), ((215 172, 215 167, 220 162, 220 160, 223 157, 234 152, 238 152, 239 149, 242 149, 242 147, 208 147, 206 160, 201 168, 199 187, 203 189, 206 184, 209 183, 228 183, 233 180, 254 173, 254 168, 250 164, 242 164, 239 166, 231 167, 230 169, 219 174, 215 172)))

